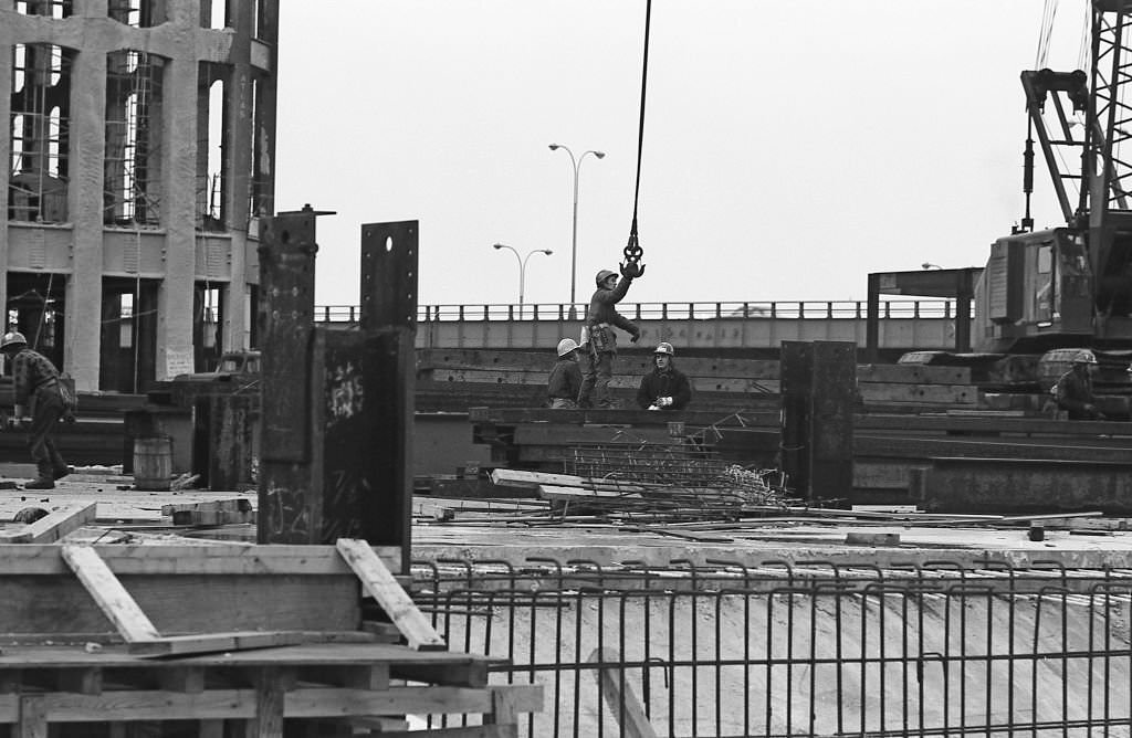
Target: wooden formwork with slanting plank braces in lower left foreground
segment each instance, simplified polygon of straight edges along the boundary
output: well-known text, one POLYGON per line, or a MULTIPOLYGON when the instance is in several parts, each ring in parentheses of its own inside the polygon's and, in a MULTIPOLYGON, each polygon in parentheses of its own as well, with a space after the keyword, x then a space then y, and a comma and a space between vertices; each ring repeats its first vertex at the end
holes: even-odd
POLYGON ((540 688, 448 651, 389 574, 398 554, 0 544, 0 736, 388 736, 435 714, 514 735, 540 688), (363 620, 363 592, 391 621, 363 620))

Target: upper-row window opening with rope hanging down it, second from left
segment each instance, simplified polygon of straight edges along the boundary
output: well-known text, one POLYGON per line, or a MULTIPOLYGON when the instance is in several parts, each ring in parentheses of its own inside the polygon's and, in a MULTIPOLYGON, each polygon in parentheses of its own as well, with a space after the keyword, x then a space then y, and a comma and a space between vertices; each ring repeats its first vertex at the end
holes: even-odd
POLYGON ((106 152, 103 222, 161 224, 161 108, 164 60, 142 51, 106 58, 106 152))

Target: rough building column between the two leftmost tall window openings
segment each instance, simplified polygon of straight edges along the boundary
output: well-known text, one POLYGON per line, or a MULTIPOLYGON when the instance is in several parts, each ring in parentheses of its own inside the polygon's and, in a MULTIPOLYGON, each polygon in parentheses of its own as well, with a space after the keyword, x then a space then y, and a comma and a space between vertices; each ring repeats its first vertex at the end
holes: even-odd
MULTIPOLYGON (((106 2, 76 3, 84 17, 106 14, 106 2)), ((106 146, 106 54, 101 44, 75 54, 70 93, 71 274, 67 282, 63 369, 78 389, 98 388, 102 311, 102 192, 106 146)))

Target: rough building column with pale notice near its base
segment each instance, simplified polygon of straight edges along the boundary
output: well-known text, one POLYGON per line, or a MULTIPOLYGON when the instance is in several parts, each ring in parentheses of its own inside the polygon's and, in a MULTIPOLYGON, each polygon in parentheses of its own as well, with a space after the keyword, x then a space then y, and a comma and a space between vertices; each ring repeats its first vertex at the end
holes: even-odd
POLYGON ((157 379, 192 357, 192 291, 196 276, 197 78, 199 0, 169 0, 177 58, 165 65, 162 98, 162 226, 165 278, 157 291, 157 379))

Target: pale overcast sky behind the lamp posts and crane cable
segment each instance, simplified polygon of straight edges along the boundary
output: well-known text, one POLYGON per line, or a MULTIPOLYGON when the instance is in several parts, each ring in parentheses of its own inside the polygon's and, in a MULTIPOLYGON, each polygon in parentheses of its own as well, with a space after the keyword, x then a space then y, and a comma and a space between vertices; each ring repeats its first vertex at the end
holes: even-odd
MULTIPOLYGON (((1062 3, 1075 38, 1083 0, 1062 3)), ((644 0, 284 0, 276 207, 319 218, 319 304, 362 223, 420 221, 420 302, 566 302, 633 214, 644 0), (333 11, 331 8, 333 7, 333 11)), ((1043 0, 654 0, 628 301, 863 300, 869 272, 983 266, 1022 215, 1019 72, 1043 0)), ((1067 31, 1066 31, 1067 29, 1067 31)), ((1071 51, 1049 66, 1077 66, 1071 51)), ((1036 174, 1039 228, 1060 225, 1036 174)))

